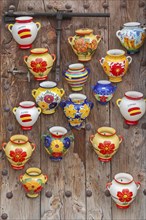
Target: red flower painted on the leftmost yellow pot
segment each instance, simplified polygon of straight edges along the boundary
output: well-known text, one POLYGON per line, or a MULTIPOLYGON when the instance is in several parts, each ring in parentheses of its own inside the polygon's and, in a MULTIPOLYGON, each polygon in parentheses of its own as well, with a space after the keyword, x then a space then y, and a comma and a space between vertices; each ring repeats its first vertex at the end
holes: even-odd
POLYGON ((23 162, 26 159, 27 153, 24 152, 22 149, 16 148, 15 151, 10 151, 10 157, 14 162, 23 162))

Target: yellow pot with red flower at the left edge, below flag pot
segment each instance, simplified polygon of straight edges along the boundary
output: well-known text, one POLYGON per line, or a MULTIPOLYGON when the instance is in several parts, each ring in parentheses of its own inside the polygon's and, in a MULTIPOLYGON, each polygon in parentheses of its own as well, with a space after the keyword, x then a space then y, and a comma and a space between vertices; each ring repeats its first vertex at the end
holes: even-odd
POLYGON ((8 143, 2 144, 6 157, 15 170, 24 168, 35 147, 34 143, 28 141, 27 136, 21 134, 13 135, 8 143))

